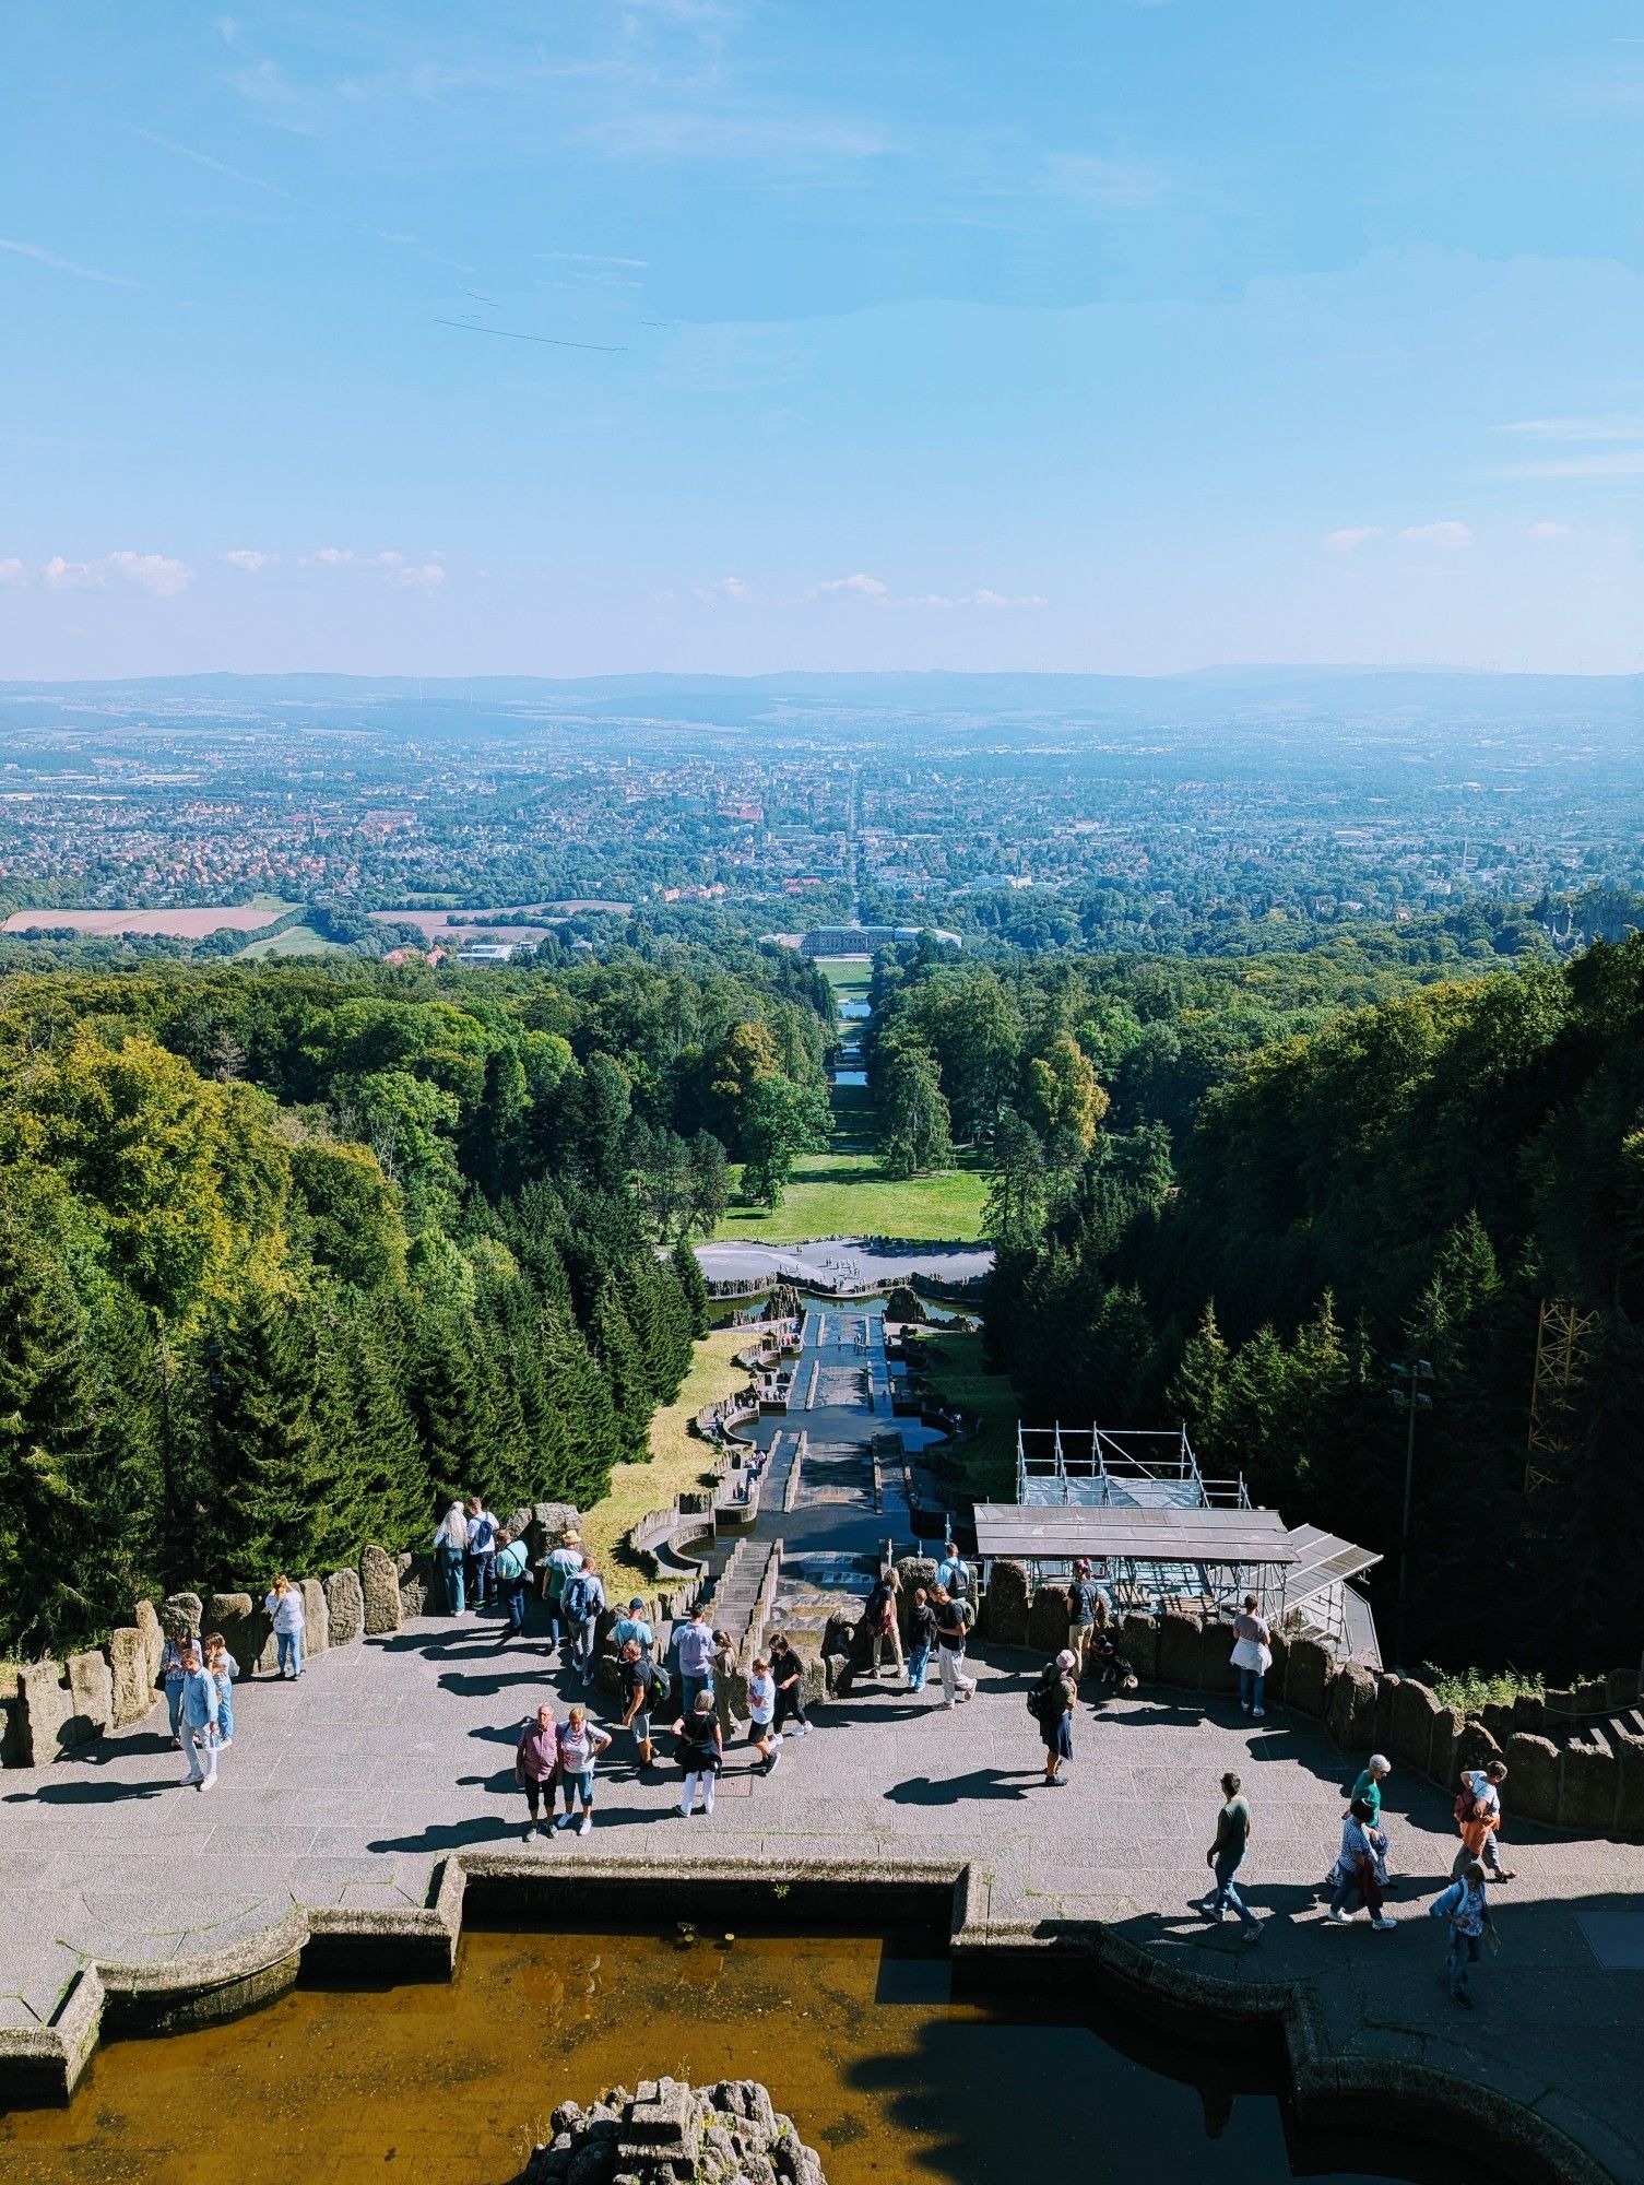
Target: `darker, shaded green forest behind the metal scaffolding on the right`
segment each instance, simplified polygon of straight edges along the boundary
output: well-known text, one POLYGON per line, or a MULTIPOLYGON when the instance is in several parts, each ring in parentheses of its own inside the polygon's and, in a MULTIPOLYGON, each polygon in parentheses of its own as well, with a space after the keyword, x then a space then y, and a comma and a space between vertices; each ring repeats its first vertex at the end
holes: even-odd
POLYGON ((1185 1418, 1207 1473, 1386 1554, 1388 1643, 1395 1366, 1430 1361, 1406 1656, 1602 1667, 1644 1556, 1644 940, 1414 975, 888 959, 888 1151, 993 1147, 986 1326, 1023 1416, 1185 1418), (1592 1324, 1526 1492, 1546 1298, 1592 1324))

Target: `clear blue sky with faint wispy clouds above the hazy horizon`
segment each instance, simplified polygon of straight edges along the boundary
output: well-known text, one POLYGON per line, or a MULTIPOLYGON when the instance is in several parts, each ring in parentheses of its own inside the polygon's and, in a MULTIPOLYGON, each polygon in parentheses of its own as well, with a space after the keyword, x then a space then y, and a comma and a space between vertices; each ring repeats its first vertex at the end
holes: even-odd
POLYGON ((1644 666, 1635 0, 17 0, 0 72, 0 675, 1644 666))

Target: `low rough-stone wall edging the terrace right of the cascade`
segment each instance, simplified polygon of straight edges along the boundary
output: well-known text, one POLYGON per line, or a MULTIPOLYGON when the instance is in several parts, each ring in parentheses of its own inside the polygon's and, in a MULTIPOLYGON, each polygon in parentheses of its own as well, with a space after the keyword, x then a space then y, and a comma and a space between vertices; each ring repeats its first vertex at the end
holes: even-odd
MULTIPOLYGON (((1052 1654, 1067 1639, 1067 1588, 1032 1593, 1028 1567, 999 1560, 990 1567, 979 1628, 999 1645, 1052 1654)), ((1132 1613, 1119 1619, 1119 1645, 1143 1685, 1237 1691, 1229 1661, 1233 1626, 1220 1619, 1132 1613)), ((1327 1645, 1283 1632, 1272 1639, 1268 1672, 1268 1700, 1314 1715, 1342 1752, 1386 1752, 1445 1790, 1463 1768, 1504 1759, 1513 1811, 1581 1835, 1644 1835, 1644 1737, 1576 1713, 1576 1704, 1627 1709, 1635 1696, 1637 1676, 1620 1669, 1567 1693, 1463 1715, 1419 1678, 1342 1663, 1327 1645)))

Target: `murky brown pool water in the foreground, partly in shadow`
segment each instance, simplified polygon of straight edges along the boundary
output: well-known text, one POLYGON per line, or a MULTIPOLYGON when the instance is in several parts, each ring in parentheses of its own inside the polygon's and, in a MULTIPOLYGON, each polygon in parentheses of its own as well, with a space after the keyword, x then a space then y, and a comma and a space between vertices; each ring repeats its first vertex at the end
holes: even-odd
POLYGON ((555 2102, 662 2071, 765 2080, 829 2185, 1349 2174, 1292 2172, 1248 2076, 1167 2069, 1185 2076, 1067 2012, 951 2001, 929 1942, 470 1932, 450 1986, 297 1988, 230 2025, 109 2043, 70 2109, 0 2117, 0 2181, 507 2185, 555 2102))

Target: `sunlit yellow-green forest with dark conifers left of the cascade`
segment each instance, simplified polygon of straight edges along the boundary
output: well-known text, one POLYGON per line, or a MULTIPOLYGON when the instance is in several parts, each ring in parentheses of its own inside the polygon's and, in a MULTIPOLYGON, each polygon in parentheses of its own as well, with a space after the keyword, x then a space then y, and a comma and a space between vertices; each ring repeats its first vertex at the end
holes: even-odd
POLYGON ((595 1501, 829 1016, 776 953, 2 981, 0 1650, 420 1545, 459 1488, 595 1501))

